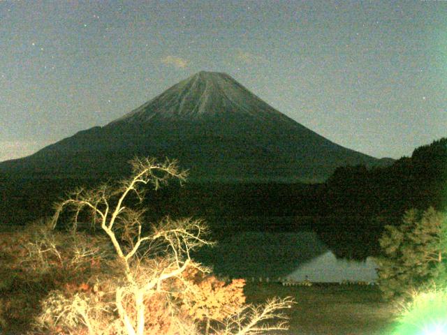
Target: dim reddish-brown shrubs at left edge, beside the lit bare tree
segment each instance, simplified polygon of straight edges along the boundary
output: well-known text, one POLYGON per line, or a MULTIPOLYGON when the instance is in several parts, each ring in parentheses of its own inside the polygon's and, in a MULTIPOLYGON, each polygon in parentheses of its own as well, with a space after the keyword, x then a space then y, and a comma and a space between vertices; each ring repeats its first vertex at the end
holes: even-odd
POLYGON ((103 241, 82 232, 54 232, 41 222, 0 240, 0 330, 7 334, 28 329, 52 290, 82 287, 101 271, 103 241))

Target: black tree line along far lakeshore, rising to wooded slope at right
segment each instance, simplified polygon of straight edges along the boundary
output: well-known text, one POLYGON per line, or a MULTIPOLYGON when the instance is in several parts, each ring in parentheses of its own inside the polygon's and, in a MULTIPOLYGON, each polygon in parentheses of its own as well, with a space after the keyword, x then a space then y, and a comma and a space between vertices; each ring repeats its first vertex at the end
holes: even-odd
MULTIPOLYGON (((54 199, 74 186, 94 186, 101 179, 0 178, 1 223, 21 225, 52 214, 54 199)), ((441 210, 447 204, 447 138, 418 147, 386 168, 337 168, 324 184, 193 184, 172 183, 148 191, 151 219, 169 212, 173 217, 206 218, 222 235, 228 227, 214 218, 298 216, 309 224, 340 257, 362 259, 379 252, 385 225, 397 225, 408 209, 441 210), (315 218, 318 218, 316 220, 315 218)), ((149 203, 147 203, 149 206, 149 203)), ((303 220, 302 220, 303 221, 303 220)), ((230 222, 228 220, 227 222, 230 222)), ((288 221, 290 222, 290 221, 288 221)), ((270 227, 268 221, 246 221, 240 230, 293 231, 299 225, 270 227)), ((236 229, 232 227, 231 229, 236 229)))

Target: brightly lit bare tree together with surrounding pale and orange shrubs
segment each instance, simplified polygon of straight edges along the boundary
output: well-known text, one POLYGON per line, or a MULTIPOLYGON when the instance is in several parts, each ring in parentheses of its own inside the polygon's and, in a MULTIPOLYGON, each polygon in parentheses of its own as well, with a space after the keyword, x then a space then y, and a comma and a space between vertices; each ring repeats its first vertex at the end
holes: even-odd
POLYGON ((191 251, 211 244, 202 221, 166 217, 147 223, 145 211, 134 209, 144 198, 142 186, 159 188, 172 177, 184 179, 176 163, 145 158, 132 165, 129 179, 78 188, 57 204, 52 228, 68 218, 69 234, 45 233, 29 244, 28 262, 36 273, 63 269, 66 278, 75 279, 50 290, 41 301, 36 331, 192 335, 205 327, 207 333, 243 335, 286 329, 284 320, 258 324, 282 318, 277 311, 290 308, 291 299, 268 301, 263 308, 242 306, 243 281, 226 285, 205 275, 209 270, 191 259, 191 251), (80 238, 78 231, 86 220, 96 231, 91 239, 87 234, 80 238))

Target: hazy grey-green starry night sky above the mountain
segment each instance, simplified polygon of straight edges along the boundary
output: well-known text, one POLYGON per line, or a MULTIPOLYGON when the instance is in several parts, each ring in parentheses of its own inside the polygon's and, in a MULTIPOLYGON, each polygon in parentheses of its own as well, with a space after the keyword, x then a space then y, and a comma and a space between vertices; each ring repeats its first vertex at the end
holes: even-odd
POLYGON ((0 1, 0 161, 225 72, 345 147, 447 135, 447 1, 0 1))

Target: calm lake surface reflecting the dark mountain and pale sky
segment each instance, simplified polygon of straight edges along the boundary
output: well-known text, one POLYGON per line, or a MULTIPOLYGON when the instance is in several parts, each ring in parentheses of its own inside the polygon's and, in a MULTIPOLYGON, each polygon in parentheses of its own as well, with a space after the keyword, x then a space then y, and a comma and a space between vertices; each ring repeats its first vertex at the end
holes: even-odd
POLYGON ((374 281, 376 264, 337 259, 316 232, 234 232, 197 259, 233 278, 308 278, 314 282, 374 281))

